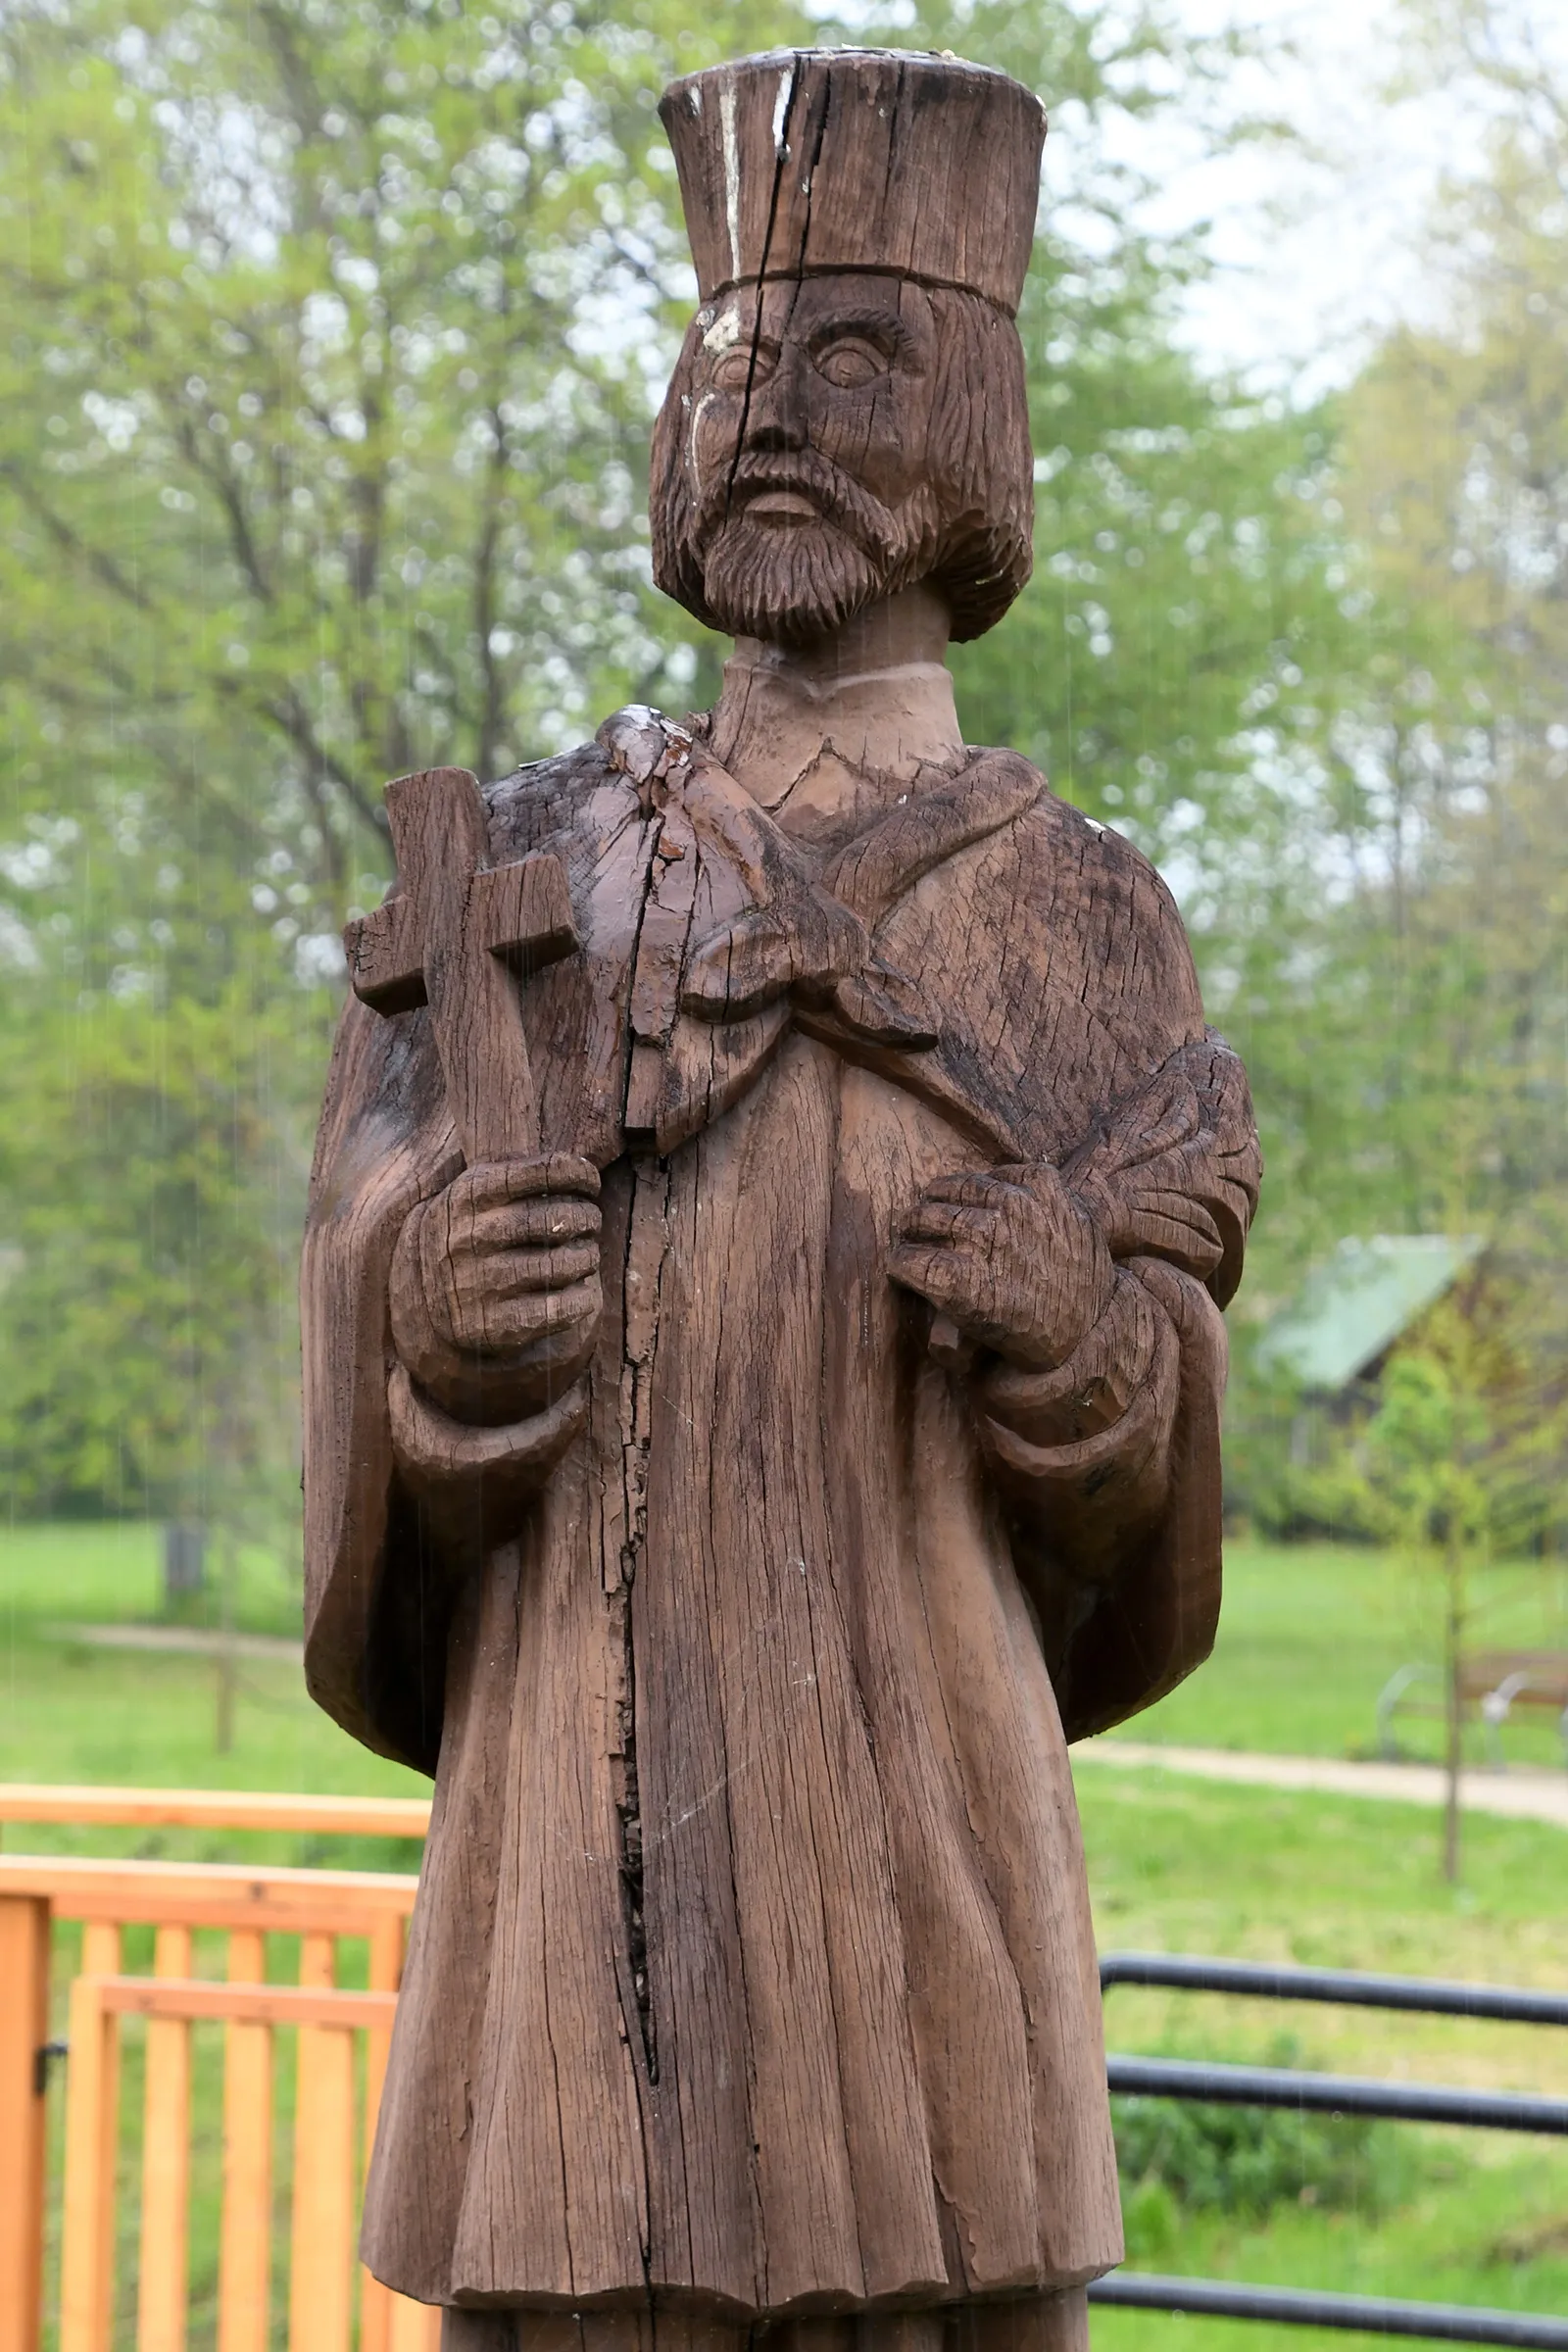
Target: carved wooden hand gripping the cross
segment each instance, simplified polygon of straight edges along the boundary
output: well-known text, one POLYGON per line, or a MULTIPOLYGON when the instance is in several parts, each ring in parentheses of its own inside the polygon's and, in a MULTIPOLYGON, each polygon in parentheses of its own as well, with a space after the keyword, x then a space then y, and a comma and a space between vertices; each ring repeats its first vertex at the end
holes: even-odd
POLYGON ((545 1152, 463 1169, 421 1202, 393 1254, 393 1343, 458 1421, 541 1411, 599 1331, 599 1174, 545 1152))

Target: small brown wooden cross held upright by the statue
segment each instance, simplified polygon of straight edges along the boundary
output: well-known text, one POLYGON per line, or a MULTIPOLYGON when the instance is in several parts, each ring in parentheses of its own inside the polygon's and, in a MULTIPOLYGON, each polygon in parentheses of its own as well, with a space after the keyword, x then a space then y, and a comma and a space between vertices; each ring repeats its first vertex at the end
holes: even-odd
POLYGON ((386 788, 402 891, 343 931, 355 995, 378 1014, 430 1007, 463 1160, 543 1150, 538 1091, 512 974, 578 946, 562 861, 489 863, 489 816, 465 767, 386 788))

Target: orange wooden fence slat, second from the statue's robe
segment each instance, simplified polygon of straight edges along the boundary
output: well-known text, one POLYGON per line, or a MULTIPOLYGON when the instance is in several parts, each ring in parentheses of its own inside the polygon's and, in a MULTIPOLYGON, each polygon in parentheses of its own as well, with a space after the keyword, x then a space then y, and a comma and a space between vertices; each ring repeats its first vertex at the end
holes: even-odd
MULTIPOLYGON (((306 1936, 301 1987, 336 1976, 331 1936, 306 1936)), ((346 2025, 299 2027, 289 2352, 350 2352, 355 2237, 355 2046, 346 2025)))

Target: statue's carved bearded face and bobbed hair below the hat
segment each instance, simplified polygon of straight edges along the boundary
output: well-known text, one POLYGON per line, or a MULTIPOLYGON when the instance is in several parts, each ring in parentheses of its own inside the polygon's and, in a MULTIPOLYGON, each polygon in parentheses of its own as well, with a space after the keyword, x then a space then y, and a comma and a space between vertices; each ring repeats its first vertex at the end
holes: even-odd
POLYGON ((1030 576, 1023 346, 957 287, 778 280, 698 310, 654 426, 654 579, 733 637, 809 644, 912 581, 954 637, 1030 576))

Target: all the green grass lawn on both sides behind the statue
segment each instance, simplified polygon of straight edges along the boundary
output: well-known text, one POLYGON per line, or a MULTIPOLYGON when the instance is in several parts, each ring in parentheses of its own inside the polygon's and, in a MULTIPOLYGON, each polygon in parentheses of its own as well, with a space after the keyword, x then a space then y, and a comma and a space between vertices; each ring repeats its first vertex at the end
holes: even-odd
MULTIPOLYGON (((1561 1639, 1559 1595, 1533 1571, 1481 1583, 1481 1637, 1561 1639)), ((214 1752, 214 1670, 197 1658, 89 1651, 71 1621, 153 1618, 158 1543, 146 1529, 28 1529, 0 1538, 0 1776, 202 1788, 414 1792, 425 1783, 355 1748, 287 1663, 242 1665, 237 1736, 214 1752)), ((296 1592, 244 1562, 242 1623, 284 1632, 296 1592)), ((1213 1663, 1131 1736, 1347 1755, 1371 1745, 1392 1665, 1429 1649, 1420 1595, 1375 1552, 1229 1552, 1213 1663)), ((1516 1755, 1552 1755, 1514 1733, 1516 1755)), ((1568 1837, 1472 1818, 1465 1882, 1436 1867, 1436 1818, 1418 1806, 1225 1788, 1159 1771, 1079 1776, 1103 1950, 1225 1952, 1418 1976, 1568 1985, 1568 1837)), ((31 1851, 132 1851, 414 1867, 400 1842, 9 1828, 31 1851)), ((139 1955, 132 1952, 132 1959, 139 1955)), ((146 1959, 146 1955, 141 1955, 146 1959)), ((219 1947, 200 1966, 216 1966, 219 1947)), ((289 1952, 275 1955, 287 1973, 289 1952)), ((1117 1990, 1107 2039, 1124 2051, 1265 2058, 1281 2034, 1305 2065, 1568 2096, 1568 2034, 1356 2011, 1286 2009, 1117 1990)), ((59 2096, 59 2093, 56 2093, 59 2096)), ((1399 2126, 1389 2126, 1396 2131, 1399 2126)), ((1502 2133, 1401 2133, 1408 2178, 1382 2211, 1288 2199, 1267 2218, 1182 2211, 1159 2183, 1128 2190, 1128 2258, 1145 2270, 1319 2284, 1455 2303, 1568 2310, 1568 2154, 1502 2133)), ((1164 2314, 1098 2312, 1095 2352, 1333 2352, 1361 2338, 1164 2314)), ((195 2331, 193 2343, 200 2340, 195 2331)))

